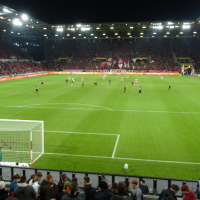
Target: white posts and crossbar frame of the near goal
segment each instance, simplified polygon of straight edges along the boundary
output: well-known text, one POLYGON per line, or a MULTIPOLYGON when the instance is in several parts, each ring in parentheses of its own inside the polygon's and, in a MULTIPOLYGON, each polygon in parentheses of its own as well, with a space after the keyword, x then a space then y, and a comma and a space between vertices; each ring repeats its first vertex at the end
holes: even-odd
MULTIPOLYGON (((7 121, 7 122, 36 122, 36 123, 41 123, 42 125, 42 152, 41 154, 35 158, 34 162, 38 160, 43 154, 44 154, 44 121, 38 121, 38 120, 19 120, 19 119, 0 119, 1 121, 7 121)), ((14 130, 14 129, 13 129, 14 130)), ((33 141, 32 141, 32 130, 31 129, 26 129, 26 131, 30 131, 30 164, 31 167, 33 167, 33 141)))

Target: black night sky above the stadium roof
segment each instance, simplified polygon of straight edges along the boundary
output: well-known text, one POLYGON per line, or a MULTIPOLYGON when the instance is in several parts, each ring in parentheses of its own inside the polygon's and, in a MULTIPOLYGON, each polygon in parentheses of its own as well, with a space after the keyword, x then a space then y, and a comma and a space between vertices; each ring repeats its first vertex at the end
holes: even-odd
POLYGON ((1 0, 0 4, 52 24, 195 20, 200 17, 200 0, 1 0))

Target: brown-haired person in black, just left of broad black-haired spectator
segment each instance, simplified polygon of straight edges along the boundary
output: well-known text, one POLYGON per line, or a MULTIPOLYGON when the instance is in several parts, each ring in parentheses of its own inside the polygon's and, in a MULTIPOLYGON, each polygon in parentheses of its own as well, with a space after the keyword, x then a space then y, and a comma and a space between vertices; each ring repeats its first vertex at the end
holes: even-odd
POLYGON ((94 200, 94 194, 96 193, 96 189, 92 187, 90 183, 90 177, 85 176, 84 178, 84 191, 85 191, 85 200, 94 200))

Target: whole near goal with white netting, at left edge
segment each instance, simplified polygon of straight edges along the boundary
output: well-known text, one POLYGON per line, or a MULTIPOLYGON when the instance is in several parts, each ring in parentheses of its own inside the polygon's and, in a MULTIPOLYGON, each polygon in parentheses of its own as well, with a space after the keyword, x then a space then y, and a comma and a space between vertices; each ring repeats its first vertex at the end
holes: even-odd
POLYGON ((33 163, 44 153, 44 122, 0 119, 2 162, 33 163))

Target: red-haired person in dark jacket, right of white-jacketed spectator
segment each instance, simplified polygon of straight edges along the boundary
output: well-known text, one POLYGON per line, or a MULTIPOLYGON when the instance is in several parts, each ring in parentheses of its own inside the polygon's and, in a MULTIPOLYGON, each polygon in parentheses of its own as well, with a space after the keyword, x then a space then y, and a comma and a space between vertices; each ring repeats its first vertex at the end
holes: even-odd
POLYGON ((53 178, 50 174, 46 176, 46 180, 44 179, 42 181, 42 184, 40 186, 40 199, 41 200, 49 200, 51 196, 50 192, 50 179, 53 178))

